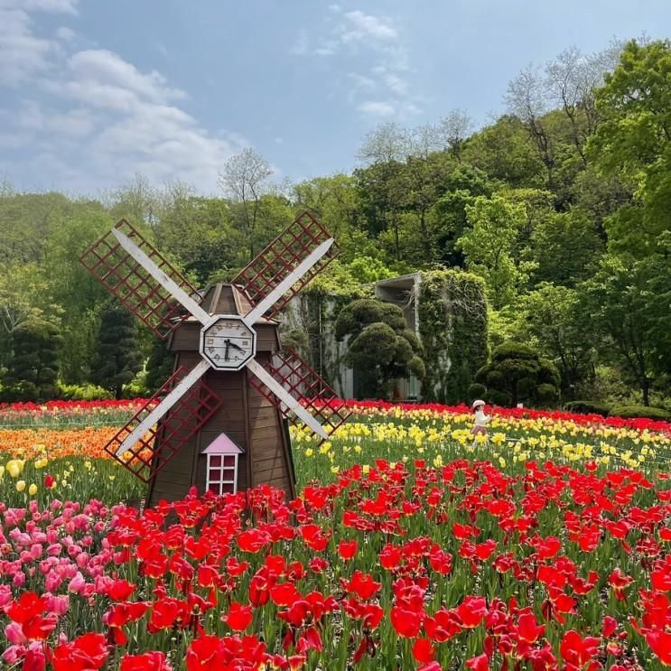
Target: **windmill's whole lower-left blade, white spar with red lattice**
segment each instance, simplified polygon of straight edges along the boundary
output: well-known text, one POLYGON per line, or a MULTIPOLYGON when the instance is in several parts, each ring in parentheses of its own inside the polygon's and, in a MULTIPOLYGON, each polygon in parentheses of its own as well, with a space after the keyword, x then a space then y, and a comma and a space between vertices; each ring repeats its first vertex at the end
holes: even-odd
POLYGON ((140 480, 151 480, 221 407, 201 378, 204 363, 178 369, 105 446, 140 480))

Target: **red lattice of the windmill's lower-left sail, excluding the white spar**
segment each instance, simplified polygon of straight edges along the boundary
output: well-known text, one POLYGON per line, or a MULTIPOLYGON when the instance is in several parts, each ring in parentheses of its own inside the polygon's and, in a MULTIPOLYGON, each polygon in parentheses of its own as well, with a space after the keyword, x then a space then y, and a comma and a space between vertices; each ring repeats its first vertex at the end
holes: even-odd
POLYGON ((161 471, 221 407, 219 396, 200 379, 129 450, 117 456, 116 451, 126 436, 161 403, 186 372, 188 371, 184 368, 178 368, 104 448, 107 454, 144 482, 148 482, 161 471))

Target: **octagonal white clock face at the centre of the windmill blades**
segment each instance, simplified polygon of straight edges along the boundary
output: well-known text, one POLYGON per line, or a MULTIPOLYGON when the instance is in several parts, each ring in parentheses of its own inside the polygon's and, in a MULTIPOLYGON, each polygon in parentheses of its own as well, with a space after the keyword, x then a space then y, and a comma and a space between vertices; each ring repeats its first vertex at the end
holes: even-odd
POLYGON ((215 315, 200 331, 200 354, 218 370, 239 370, 256 354, 256 332, 237 316, 215 315))

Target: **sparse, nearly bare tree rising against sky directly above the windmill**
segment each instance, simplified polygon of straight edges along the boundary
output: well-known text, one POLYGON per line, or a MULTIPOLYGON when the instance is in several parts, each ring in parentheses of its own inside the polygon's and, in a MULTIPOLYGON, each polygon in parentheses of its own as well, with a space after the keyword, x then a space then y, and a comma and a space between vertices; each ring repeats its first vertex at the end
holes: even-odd
POLYGON ((238 204, 238 220, 249 250, 248 261, 259 248, 256 236, 261 197, 267 193, 267 179, 271 174, 270 163, 250 147, 229 158, 224 172, 219 173, 219 186, 238 204))

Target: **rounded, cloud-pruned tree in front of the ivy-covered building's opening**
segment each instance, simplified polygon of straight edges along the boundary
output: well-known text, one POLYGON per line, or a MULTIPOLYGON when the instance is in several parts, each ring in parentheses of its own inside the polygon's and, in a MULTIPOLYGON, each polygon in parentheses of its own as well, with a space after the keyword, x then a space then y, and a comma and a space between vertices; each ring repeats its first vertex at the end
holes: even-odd
POLYGON ((339 341, 349 337, 345 361, 361 375, 365 396, 388 398, 392 380, 424 377, 419 340, 397 305, 353 301, 340 311, 335 335, 339 341))

